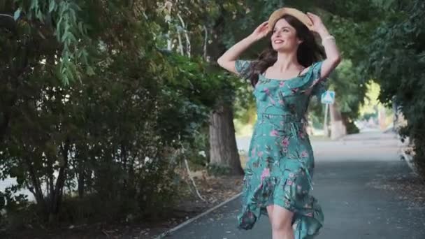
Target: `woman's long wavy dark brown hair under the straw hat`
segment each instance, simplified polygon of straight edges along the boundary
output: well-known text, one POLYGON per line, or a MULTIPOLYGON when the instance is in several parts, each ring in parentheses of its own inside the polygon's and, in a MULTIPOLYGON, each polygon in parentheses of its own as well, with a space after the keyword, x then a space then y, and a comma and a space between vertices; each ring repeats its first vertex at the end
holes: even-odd
MULTIPOLYGON (((280 19, 282 18, 296 29, 296 36, 303 41, 300 45, 298 45, 298 50, 296 52, 298 62, 302 66, 308 67, 314 62, 325 57, 324 49, 315 41, 315 36, 312 31, 305 26, 305 24, 292 15, 284 15, 280 19)), ((270 36, 268 37, 270 38, 270 36)), ((273 66, 277 60, 278 52, 273 49, 270 41, 268 48, 261 52, 257 60, 252 61, 250 68, 248 68, 243 75, 245 78, 249 79, 251 85, 255 87, 258 82, 259 74, 264 73, 266 69, 273 66)))

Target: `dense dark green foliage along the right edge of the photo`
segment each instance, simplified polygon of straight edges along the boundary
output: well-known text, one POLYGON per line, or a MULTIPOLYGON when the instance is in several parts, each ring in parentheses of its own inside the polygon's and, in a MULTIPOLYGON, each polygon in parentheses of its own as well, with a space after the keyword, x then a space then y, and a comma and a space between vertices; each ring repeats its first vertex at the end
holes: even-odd
POLYGON ((401 131, 415 144, 415 161, 425 175, 424 1, 391 1, 367 46, 368 74, 381 86, 380 101, 396 103, 408 125, 401 131), (393 97, 395 96, 395 101, 393 97))

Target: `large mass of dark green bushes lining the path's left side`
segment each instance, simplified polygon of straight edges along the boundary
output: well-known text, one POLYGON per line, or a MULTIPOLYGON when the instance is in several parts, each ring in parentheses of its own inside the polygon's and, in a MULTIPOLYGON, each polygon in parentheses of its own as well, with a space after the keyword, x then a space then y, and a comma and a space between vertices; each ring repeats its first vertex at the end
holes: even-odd
POLYGON ((47 3, 2 6, 19 17, 0 34, 0 177, 17 178, 1 192, 0 209, 31 210, 50 223, 166 212, 178 196, 179 150, 205 150, 196 135, 217 103, 214 92, 231 84, 198 57, 157 48, 162 16, 149 1, 67 1, 84 10, 71 10, 65 26, 57 21, 66 22, 66 10, 47 3), (89 26, 85 36, 75 24, 89 26), (12 196, 20 188, 34 194, 36 210, 12 196))

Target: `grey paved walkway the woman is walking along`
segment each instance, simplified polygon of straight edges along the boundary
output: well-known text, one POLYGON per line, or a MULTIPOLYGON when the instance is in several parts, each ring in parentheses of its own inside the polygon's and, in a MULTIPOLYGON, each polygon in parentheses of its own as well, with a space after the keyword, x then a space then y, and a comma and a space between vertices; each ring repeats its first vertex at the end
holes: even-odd
MULTIPOLYGON (((325 214, 317 239, 424 239, 425 205, 412 207, 403 196, 376 189, 371 182, 409 174, 398 157, 391 133, 363 133, 343 140, 313 142, 316 168, 312 194, 325 214)), ((167 238, 268 239, 268 217, 261 217, 250 231, 236 229, 240 198, 231 201, 167 238)))

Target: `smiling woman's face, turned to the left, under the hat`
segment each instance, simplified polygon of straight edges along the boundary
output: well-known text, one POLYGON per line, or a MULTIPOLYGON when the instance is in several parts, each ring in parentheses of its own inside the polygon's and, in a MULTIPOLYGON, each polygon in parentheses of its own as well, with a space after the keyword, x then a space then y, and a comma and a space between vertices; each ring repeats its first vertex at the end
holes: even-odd
POLYGON ((276 22, 273 34, 271 35, 271 45, 277 52, 289 52, 296 50, 301 40, 296 36, 296 29, 287 20, 281 18, 276 22))

